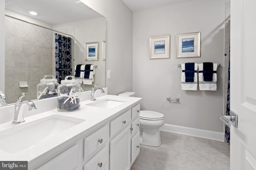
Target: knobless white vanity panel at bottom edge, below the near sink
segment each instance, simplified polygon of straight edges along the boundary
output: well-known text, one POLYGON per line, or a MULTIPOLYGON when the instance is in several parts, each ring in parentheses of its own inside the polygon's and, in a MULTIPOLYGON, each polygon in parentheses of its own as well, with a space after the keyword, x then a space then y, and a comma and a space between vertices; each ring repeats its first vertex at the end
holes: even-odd
POLYGON ((78 144, 52 158, 36 170, 74 170, 78 166, 78 144))

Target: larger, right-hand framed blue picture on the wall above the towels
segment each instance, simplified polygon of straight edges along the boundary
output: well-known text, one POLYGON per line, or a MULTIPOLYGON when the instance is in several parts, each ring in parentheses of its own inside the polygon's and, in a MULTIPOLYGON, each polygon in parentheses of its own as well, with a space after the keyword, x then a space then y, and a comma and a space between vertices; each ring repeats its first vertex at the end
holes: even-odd
POLYGON ((177 58, 200 57, 200 32, 177 35, 177 58))

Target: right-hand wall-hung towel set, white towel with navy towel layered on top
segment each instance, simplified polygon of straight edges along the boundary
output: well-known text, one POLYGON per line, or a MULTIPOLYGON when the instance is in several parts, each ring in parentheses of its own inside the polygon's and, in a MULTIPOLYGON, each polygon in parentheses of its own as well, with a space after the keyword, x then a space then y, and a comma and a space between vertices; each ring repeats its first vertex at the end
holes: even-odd
POLYGON ((198 80, 200 90, 217 90, 217 68, 217 63, 212 63, 212 70, 211 64, 209 63, 198 64, 198 80))

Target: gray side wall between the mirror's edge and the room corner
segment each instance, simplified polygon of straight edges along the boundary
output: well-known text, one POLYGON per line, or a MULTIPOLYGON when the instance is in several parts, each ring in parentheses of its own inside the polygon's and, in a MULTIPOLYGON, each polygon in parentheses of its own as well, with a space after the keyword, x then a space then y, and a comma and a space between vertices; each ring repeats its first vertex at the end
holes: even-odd
POLYGON ((106 79, 109 94, 132 91, 132 11, 122 0, 81 0, 106 17, 106 79))

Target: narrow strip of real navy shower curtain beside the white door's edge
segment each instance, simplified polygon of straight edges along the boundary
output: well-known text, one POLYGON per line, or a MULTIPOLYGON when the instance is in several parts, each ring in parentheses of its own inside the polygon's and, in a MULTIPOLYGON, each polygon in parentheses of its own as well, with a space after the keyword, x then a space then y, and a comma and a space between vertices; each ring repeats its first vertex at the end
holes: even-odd
MULTIPOLYGON (((229 47, 229 57, 228 57, 228 98, 227 98, 227 114, 230 113, 230 47, 229 47)), ((225 139, 228 145, 230 145, 230 128, 225 125, 225 139)))

